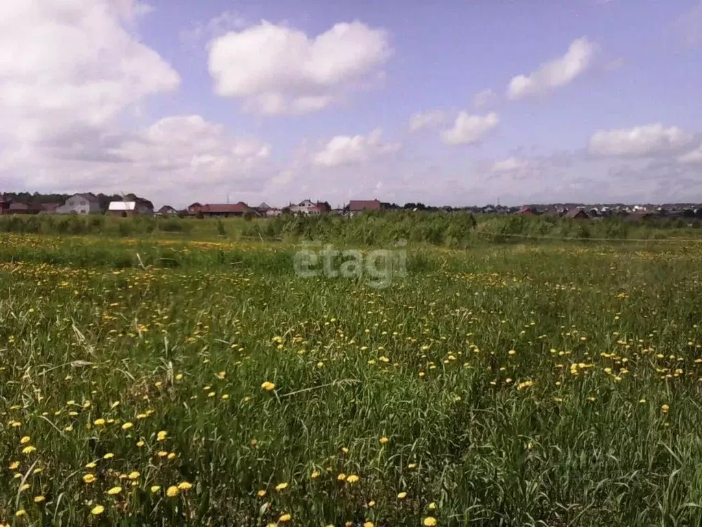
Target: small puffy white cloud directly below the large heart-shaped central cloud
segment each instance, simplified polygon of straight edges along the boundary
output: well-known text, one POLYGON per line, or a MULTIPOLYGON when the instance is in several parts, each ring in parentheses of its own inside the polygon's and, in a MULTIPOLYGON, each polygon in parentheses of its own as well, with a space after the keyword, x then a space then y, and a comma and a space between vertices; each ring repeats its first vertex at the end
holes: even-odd
POLYGON ((315 153, 312 162, 319 167, 340 167, 359 164, 380 155, 397 152, 399 143, 383 141, 382 131, 375 129, 367 136, 336 136, 315 153))

